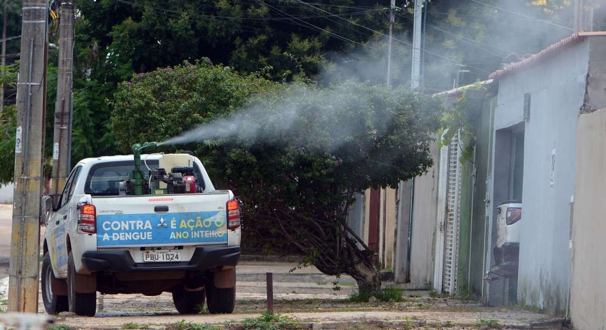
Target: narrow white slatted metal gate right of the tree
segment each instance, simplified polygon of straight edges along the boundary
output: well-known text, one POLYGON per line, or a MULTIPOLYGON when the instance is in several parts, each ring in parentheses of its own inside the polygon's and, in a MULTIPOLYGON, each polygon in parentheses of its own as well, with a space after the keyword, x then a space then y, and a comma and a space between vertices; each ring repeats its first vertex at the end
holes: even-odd
POLYGON ((459 210, 461 196, 461 150, 458 136, 454 136, 448 147, 448 188, 445 219, 444 284, 442 290, 453 295, 456 291, 456 274, 459 242, 459 210))

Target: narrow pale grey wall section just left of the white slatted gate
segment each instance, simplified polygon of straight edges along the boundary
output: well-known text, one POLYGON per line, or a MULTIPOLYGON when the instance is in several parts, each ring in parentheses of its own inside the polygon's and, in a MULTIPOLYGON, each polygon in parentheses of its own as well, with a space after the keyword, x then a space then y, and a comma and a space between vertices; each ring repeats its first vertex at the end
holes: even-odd
POLYGON ((438 146, 430 146, 434 166, 415 178, 410 246, 410 287, 427 288, 433 277, 433 246, 438 210, 438 146))

